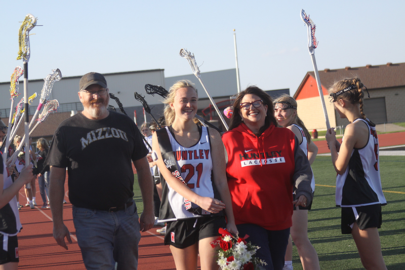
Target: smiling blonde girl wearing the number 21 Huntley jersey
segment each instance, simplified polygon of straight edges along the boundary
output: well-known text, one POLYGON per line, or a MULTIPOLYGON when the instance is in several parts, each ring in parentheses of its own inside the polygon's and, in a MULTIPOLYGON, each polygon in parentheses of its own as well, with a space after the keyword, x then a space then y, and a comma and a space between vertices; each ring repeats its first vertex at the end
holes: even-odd
POLYGON ((167 127, 153 133, 152 155, 163 176, 159 221, 167 222, 165 244, 170 245, 176 268, 196 269, 199 254, 201 269, 213 270, 218 265, 210 243, 218 238, 220 227, 234 234, 237 228, 221 136, 193 122, 197 100, 190 81, 170 88, 164 101, 167 127))

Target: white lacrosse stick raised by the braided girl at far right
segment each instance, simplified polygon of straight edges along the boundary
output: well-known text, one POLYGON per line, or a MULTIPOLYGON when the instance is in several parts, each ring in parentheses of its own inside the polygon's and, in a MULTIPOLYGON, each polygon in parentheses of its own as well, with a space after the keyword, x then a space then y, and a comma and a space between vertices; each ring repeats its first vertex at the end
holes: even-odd
POLYGON ((320 102, 322 103, 322 108, 323 108, 323 114, 325 115, 326 126, 327 126, 328 129, 330 129, 331 125, 329 124, 328 112, 326 110, 325 99, 323 99, 322 86, 320 84, 318 68, 316 66, 316 60, 315 60, 315 48, 318 46, 318 43, 317 43, 316 37, 315 37, 315 28, 316 27, 315 27, 315 24, 313 23, 313 21, 309 18, 309 16, 306 15, 304 10, 301 10, 300 15, 301 15, 301 20, 303 22, 305 22, 305 24, 307 25, 307 29, 308 29, 308 52, 309 52, 309 55, 311 56, 311 59, 312 59, 312 65, 313 65, 313 70, 314 70, 314 74, 315 74, 315 80, 316 80, 316 84, 318 86, 320 102))

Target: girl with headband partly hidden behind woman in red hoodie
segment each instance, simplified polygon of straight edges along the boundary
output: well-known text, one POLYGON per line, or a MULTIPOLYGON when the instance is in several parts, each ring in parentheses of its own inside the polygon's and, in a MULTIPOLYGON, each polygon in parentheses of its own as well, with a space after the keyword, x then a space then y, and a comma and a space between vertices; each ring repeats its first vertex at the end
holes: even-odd
MULTIPOLYGON (((278 125, 288 128, 294 132, 300 143, 301 149, 307 154, 309 163, 312 165, 318 153, 318 147, 311 140, 311 135, 306 129, 302 120, 297 114, 297 101, 289 95, 281 95, 274 100, 274 117, 278 125)), ((312 177, 312 192, 314 191, 315 181, 312 177)), ((299 206, 294 207, 293 212, 293 226, 290 228, 290 234, 297 247, 298 255, 301 259, 301 264, 304 270, 317 270, 319 269, 318 254, 311 245, 308 239, 308 210, 311 205, 307 207, 299 206)), ((292 270, 293 260, 293 243, 289 238, 287 246, 284 270, 292 270)))

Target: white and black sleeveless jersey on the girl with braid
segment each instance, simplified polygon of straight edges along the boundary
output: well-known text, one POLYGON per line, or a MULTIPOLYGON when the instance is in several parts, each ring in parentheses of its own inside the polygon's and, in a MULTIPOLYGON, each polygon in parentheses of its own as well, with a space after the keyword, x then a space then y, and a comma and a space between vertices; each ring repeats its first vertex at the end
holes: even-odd
POLYGON ((369 140, 365 147, 352 150, 345 173, 336 177, 336 206, 385 205, 387 201, 381 187, 376 127, 369 120, 356 119, 353 123, 357 121, 367 124, 369 140))

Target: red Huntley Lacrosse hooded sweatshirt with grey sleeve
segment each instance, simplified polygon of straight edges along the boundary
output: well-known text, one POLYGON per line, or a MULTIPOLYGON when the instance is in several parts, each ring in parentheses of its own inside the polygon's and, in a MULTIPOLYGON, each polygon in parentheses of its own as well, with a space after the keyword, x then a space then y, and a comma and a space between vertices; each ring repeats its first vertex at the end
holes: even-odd
POLYGON ((257 137, 244 123, 222 136, 226 173, 236 224, 268 230, 292 226, 293 185, 296 198, 312 200, 312 172, 298 140, 289 129, 270 125, 257 137))

